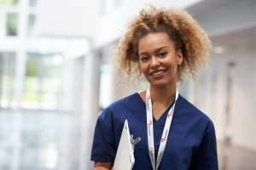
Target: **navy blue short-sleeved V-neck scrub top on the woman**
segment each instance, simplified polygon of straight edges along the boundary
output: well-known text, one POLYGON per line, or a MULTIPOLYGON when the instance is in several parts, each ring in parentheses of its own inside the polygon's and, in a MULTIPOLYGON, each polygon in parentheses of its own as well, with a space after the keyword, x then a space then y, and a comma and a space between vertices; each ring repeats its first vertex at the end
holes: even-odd
MULTIPOLYGON (((172 104, 173 105, 173 104, 172 104)), ((154 119, 155 156, 166 123, 168 110, 158 121, 154 119)), ((148 155, 146 105, 139 94, 120 99, 102 111, 96 122, 91 161, 113 162, 119 145, 125 119, 134 138, 141 137, 135 146, 134 170, 150 170, 148 155)), ((166 150, 159 170, 216 170, 218 156, 212 121, 181 95, 175 105, 166 150)))

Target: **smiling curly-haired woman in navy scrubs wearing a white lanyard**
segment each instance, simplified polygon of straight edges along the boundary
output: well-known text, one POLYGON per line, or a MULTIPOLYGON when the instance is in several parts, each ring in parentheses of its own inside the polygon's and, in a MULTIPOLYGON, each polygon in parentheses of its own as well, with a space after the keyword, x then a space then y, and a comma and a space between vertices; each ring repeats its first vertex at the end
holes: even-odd
POLYGON ((196 79, 210 46, 184 10, 152 7, 131 20, 117 48, 119 69, 128 81, 143 73, 150 87, 102 111, 91 152, 95 169, 113 166, 125 119, 131 134, 141 137, 133 169, 218 169, 212 121, 177 91, 184 73, 196 79))

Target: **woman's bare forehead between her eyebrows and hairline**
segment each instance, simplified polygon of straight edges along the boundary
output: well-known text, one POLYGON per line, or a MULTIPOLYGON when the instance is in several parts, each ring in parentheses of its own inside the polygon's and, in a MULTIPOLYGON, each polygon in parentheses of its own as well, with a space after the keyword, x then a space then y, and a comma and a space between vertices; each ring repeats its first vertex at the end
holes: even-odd
POLYGON ((138 52, 148 52, 158 48, 174 48, 173 41, 165 32, 148 33, 138 42, 138 52))

